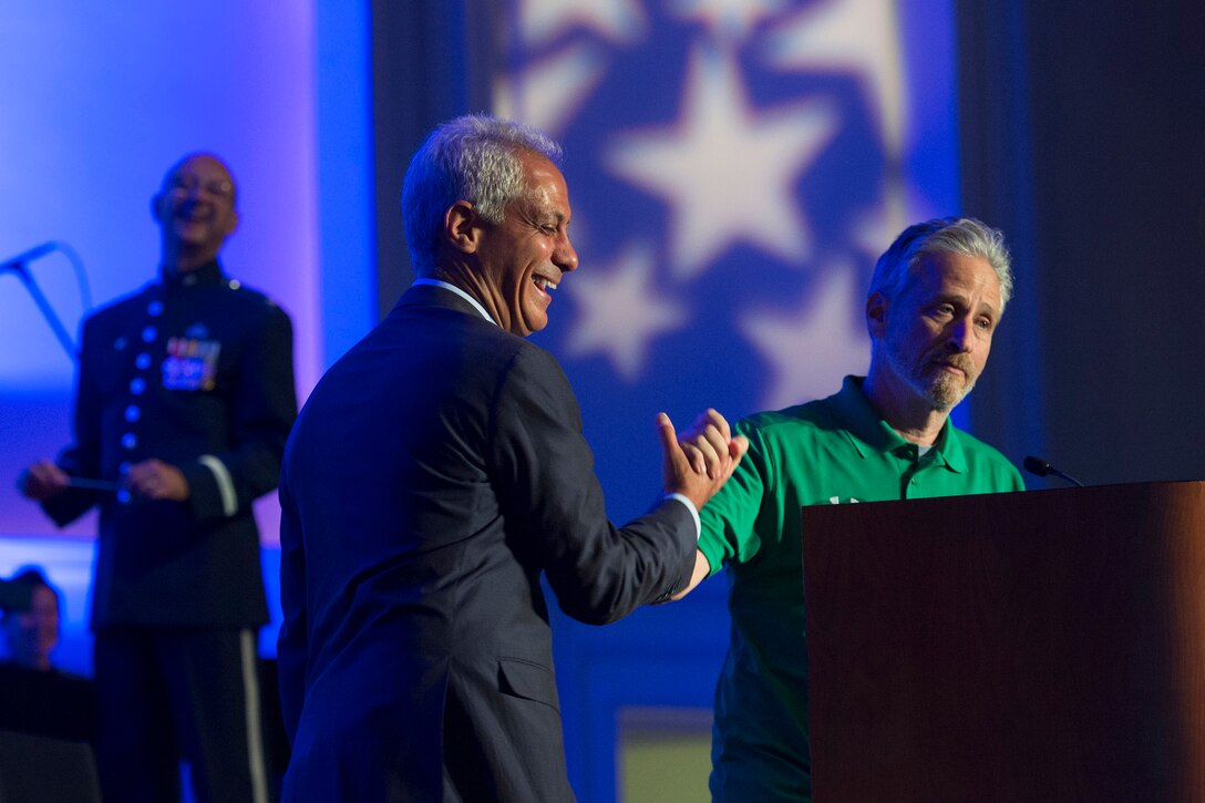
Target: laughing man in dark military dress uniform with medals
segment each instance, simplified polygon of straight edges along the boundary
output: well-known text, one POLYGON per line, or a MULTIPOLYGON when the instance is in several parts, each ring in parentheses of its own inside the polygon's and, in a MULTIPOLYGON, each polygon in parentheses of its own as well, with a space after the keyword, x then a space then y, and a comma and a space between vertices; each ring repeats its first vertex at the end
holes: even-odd
POLYGON ((92 627, 106 799, 266 799, 255 631, 268 621, 251 504, 296 416, 293 330, 217 256, 235 184, 182 159, 152 211, 158 282, 83 324, 75 444, 22 476, 65 524, 100 505, 92 627))

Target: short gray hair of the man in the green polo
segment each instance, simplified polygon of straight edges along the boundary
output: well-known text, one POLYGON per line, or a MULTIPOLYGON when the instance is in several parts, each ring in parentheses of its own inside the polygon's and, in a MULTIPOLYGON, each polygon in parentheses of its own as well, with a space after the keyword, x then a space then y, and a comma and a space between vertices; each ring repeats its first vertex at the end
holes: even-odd
POLYGON ((894 298, 916 264, 935 253, 980 257, 992 265, 1000 281, 1000 315, 1004 315, 1012 298, 1012 258, 1004 233, 974 217, 940 217, 906 228, 878 258, 868 295, 882 293, 894 298))

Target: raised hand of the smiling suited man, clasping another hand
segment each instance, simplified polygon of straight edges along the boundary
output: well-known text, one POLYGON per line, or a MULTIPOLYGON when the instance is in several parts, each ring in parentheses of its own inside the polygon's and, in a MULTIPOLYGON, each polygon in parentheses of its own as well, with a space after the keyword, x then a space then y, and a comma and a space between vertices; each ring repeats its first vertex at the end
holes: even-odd
POLYGON ((658 414, 657 427, 662 436, 665 492, 681 493, 703 510, 733 475, 748 450, 748 439, 733 438, 728 422, 715 410, 700 414, 682 438, 664 412, 658 414))

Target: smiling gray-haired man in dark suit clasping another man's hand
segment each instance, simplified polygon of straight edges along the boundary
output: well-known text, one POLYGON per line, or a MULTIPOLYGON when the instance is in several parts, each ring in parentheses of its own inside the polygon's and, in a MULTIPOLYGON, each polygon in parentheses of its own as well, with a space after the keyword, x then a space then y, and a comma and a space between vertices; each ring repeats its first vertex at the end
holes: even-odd
POLYGON ((436 129, 402 198, 419 279, 290 435, 288 801, 571 801, 540 576, 586 622, 668 598, 743 453, 709 411, 688 457, 662 414, 666 498, 607 521, 569 382, 524 340, 577 268, 559 156, 494 118, 436 129))

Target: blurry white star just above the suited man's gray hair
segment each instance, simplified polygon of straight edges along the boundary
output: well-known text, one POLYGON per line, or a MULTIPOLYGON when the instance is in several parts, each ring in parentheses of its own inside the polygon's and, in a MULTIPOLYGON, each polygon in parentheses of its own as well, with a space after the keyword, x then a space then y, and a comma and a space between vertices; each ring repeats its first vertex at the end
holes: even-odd
POLYGON ((565 47, 519 75, 494 82, 494 111, 560 136, 606 75, 610 58, 595 42, 565 47))

